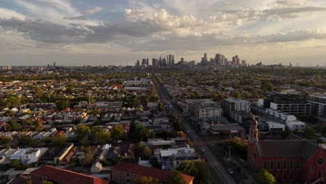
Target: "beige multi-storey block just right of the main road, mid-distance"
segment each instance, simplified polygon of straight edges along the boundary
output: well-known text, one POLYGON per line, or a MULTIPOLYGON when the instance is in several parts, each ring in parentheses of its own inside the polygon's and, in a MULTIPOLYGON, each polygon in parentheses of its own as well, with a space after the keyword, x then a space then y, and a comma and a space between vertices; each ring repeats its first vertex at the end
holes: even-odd
POLYGON ((189 112, 194 118, 222 117, 222 108, 210 99, 193 100, 189 103, 189 112))

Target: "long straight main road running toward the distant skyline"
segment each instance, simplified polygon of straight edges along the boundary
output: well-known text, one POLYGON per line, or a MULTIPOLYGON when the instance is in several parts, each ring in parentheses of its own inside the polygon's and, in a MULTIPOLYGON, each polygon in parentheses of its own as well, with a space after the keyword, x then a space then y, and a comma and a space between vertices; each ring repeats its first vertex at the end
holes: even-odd
MULTIPOLYGON (((157 93, 160 95, 160 100, 166 101, 169 100, 169 95, 163 89, 161 84, 156 84, 157 93)), ((167 106, 167 112, 171 115, 181 114, 181 110, 176 107, 176 104, 171 102, 167 106)), ((194 141, 194 146, 197 150, 201 151, 202 157, 205 159, 205 162, 208 164, 208 167, 211 171, 211 182, 212 183, 226 183, 233 184, 233 178, 226 172, 222 164, 215 158, 215 155, 212 154, 212 151, 208 146, 205 145, 205 141, 202 141, 201 138, 196 134, 196 131, 191 128, 185 116, 179 116, 181 123, 183 123, 183 128, 187 132, 187 137, 190 137, 194 141)))

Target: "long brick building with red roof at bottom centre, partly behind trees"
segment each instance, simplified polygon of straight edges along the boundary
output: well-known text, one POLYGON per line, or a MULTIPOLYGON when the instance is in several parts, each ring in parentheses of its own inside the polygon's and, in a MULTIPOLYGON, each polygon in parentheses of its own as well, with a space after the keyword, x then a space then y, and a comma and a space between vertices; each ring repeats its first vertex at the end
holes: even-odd
MULTIPOLYGON (((127 162, 120 162, 111 168, 111 181, 120 184, 129 184, 132 183, 132 181, 134 181, 136 178, 147 176, 155 178, 161 182, 165 182, 171 173, 171 171, 155 169, 152 167, 144 167, 138 164, 131 164, 127 162)), ((185 182, 187 184, 192 184, 192 181, 194 180, 193 176, 188 176, 185 174, 183 174, 183 178, 185 178, 185 182)))

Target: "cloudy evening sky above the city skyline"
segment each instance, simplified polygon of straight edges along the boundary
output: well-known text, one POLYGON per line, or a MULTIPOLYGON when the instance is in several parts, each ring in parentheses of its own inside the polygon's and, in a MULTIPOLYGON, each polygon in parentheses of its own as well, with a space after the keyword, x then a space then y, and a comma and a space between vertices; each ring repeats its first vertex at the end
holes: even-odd
POLYGON ((0 66, 326 65, 325 0, 0 0, 0 66))

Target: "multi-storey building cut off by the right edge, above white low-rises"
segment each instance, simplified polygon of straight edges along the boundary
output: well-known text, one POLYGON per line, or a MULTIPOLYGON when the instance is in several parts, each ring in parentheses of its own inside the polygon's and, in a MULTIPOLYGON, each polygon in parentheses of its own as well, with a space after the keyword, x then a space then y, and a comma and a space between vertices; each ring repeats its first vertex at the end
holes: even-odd
POLYGON ((311 104, 312 112, 320 117, 326 118, 326 95, 311 94, 307 98, 311 104))

